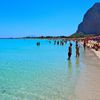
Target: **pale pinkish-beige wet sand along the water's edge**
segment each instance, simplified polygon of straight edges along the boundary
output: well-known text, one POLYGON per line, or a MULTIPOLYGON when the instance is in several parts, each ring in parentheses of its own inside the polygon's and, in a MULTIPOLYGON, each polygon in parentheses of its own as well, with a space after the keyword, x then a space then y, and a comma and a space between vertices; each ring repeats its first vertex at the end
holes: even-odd
POLYGON ((76 100, 100 100, 100 59, 91 50, 86 50, 84 69, 76 85, 76 100))

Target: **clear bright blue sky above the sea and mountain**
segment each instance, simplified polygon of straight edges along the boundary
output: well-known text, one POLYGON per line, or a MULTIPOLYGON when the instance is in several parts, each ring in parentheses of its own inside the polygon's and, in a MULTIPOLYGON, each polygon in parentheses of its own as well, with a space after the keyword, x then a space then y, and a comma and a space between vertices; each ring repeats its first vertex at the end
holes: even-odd
POLYGON ((69 36, 100 0, 0 0, 0 37, 69 36))

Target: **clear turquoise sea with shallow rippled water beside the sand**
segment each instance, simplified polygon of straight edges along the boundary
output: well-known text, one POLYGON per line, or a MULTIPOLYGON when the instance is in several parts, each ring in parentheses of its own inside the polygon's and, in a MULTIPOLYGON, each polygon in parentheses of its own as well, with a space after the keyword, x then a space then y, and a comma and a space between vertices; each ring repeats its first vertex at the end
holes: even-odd
POLYGON ((53 40, 0 39, 0 100, 75 100, 84 50, 80 47, 80 58, 76 58, 72 42, 68 61, 69 43, 61 46, 53 40))

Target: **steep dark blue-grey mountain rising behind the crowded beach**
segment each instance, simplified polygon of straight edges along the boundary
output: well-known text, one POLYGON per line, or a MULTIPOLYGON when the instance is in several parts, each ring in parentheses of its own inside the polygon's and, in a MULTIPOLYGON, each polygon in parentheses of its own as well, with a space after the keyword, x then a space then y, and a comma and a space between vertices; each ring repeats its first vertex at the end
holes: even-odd
POLYGON ((76 33, 100 35, 100 3, 95 3, 86 12, 76 33))

